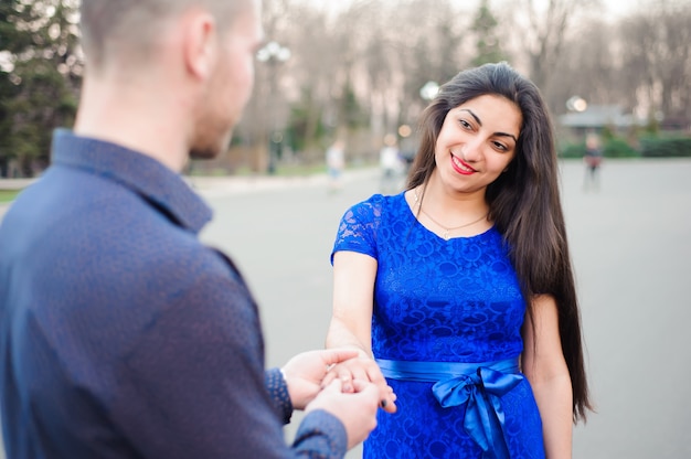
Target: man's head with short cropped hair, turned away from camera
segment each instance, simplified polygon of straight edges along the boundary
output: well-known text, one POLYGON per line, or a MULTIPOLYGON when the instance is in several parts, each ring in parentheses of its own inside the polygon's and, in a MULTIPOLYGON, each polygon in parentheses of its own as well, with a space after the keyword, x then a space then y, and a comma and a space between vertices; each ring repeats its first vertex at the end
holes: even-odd
POLYGON ((147 82, 146 97, 179 100, 192 156, 227 147, 254 83, 259 0, 82 0, 81 14, 86 79, 147 82))

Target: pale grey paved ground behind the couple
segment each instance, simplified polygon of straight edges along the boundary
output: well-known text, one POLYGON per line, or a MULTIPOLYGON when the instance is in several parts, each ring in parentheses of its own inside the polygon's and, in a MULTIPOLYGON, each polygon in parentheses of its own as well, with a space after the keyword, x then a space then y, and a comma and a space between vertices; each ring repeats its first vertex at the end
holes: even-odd
MULTIPOLYGON (((235 257, 258 298, 267 364, 322 346, 338 221, 378 191, 374 172, 337 193, 323 177, 193 182, 215 211, 202 237, 235 257)), ((691 160, 607 161, 597 192, 583 190, 580 162, 562 173, 598 412, 576 428, 574 458, 691 457, 691 160)))

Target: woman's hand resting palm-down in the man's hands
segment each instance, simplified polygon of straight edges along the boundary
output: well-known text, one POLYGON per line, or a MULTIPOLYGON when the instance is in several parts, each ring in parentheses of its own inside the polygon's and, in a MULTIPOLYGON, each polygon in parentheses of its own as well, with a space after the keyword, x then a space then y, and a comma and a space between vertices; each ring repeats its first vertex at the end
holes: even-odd
POLYGON ((387 413, 396 412, 396 394, 386 383, 376 362, 369 356, 364 356, 362 352, 354 359, 332 365, 325 376, 322 385, 327 386, 336 378, 341 381, 342 391, 346 393, 355 392, 354 381, 373 383, 380 393, 380 406, 387 413))

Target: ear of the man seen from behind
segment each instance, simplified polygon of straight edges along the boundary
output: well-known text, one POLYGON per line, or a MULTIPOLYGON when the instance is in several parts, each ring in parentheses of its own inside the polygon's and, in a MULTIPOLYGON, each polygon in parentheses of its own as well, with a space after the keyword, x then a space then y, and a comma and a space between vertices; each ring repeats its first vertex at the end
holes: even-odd
POLYGON ((184 21, 183 45, 184 64, 194 78, 206 79, 216 62, 216 23, 206 12, 191 12, 184 21))

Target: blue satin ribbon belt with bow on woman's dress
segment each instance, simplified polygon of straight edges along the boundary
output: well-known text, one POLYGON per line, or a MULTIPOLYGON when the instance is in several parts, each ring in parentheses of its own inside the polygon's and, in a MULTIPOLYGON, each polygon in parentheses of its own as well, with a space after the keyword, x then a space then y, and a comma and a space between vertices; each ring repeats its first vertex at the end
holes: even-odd
POLYGON ((523 380, 518 359, 482 363, 376 359, 376 363, 385 377, 435 383, 432 392, 445 408, 467 403, 464 428, 482 457, 510 458, 501 397, 523 380))

